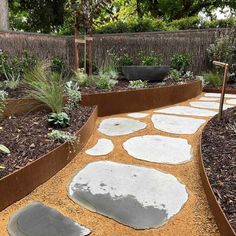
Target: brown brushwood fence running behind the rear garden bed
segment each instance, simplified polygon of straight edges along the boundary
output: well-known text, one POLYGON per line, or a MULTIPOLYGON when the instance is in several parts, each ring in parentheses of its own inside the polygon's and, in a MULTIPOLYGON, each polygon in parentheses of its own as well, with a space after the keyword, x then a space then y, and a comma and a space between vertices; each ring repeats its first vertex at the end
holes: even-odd
MULTIPOLYGON (((128 53, 134 58, 140 50, 155 51, 164 55, 169 64, 175 53, 189 53, 195 73, 209 68, 206 49, 226 29, 167 31, 152 33, 123 33, 94 35, 94 62, 100 66, 112 55, 128 53)), ((71 67, 74 64, 73 37, 52 36, 35 33, 0 32, 0 49, 10 55, 20 55, 23 50, 33 52, 40 58, 63 58, 71 67)))

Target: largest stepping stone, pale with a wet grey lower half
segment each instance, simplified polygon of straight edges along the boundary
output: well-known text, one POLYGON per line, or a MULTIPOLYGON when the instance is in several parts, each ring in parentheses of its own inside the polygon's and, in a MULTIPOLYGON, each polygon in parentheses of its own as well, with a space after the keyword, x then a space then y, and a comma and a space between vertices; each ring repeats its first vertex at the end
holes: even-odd
POLYGON ((173 175, 111 161, 88 164, 73 177, 68 193, 83 207, 135 229, 161 226, 188 199, 173 175))

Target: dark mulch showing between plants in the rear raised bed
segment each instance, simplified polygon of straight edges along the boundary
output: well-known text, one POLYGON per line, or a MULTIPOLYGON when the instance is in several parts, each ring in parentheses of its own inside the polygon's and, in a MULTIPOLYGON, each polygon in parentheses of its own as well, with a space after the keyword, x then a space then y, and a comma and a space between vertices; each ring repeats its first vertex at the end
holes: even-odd
MULTIPOLYGON (((189 83, 193 80, 183 80, 182 83, 189 83)), ((181 84, 180 82, 175 82, 172 79, 166 79, 163 82, 148 82, 147 88, 156 88, 156 87, 164 87, 164 86, 170 86, 170 85, 177 85, 181 84)), ((82 94, 94 94, 94 93, 103 93, 103 92, 109 92, 109 91, 128 91, 128 90, 136 90, 129 88, 129 82, 126 79, 120 79, 118 80, 118 83, 111 89, 98 89, 96 87, 81 87, 82 94)), ((8 92, 9 98, 25 98, 26 97, 26 89, 23 86, 19 86, 16 90, 6 90, 8 92)))

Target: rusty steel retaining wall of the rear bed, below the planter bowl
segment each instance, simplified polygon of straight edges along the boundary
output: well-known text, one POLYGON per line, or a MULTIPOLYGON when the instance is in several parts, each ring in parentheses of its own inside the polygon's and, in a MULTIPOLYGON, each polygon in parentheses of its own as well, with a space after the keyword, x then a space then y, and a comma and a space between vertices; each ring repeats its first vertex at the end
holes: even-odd
POLYGON ((81 104, 97 105, 98 115, 107 116, 172 105, 196 97, 201 91, 201 81, 197 80, 158 88, 84 94, 81 104))

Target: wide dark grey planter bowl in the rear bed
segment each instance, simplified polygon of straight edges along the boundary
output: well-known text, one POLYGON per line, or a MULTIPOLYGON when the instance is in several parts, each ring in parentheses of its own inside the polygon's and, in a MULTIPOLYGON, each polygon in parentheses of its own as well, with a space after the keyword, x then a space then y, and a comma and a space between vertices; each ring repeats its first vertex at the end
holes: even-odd
POLYGON ((127 80, 161 82, 169 70, 169 66, 122 66, 122 72, 127 80))

